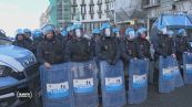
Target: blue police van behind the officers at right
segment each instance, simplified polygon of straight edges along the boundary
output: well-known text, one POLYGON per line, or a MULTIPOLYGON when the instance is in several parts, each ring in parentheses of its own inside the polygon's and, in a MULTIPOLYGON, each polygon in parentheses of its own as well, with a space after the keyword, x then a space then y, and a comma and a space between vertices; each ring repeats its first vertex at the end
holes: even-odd
POLYGON ((172 30, 175 33, 180 29, 185 29, 190 38, 192 36, 192 19, 186 13, 162 13, 153 23, 150 32, 152 44, 159 41, 158 33, 162 28, 172 30))

